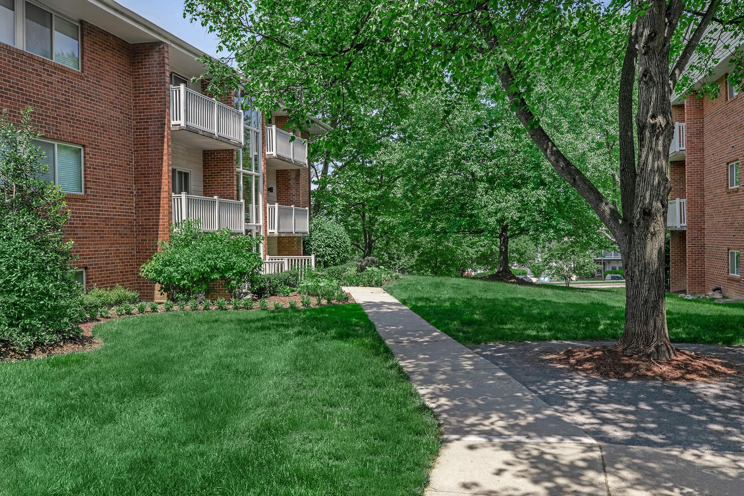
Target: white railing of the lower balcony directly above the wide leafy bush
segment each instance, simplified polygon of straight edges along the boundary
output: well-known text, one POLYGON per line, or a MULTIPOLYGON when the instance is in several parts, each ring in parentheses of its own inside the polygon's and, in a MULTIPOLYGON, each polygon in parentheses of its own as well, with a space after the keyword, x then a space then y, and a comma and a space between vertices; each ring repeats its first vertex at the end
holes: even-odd
POLYGON ((225 200, 214 196, 173 195, 173 224, 196 219, 204 231, 228 228, 234 233, 246 229, 246 204, 243 200, 225 200))

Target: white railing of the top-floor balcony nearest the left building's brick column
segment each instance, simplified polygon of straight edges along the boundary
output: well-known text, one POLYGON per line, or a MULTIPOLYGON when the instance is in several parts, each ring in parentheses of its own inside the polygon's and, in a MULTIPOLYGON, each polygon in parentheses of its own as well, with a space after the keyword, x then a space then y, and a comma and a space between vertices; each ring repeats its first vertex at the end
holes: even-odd
POLYGON ((199 129, 243 145, 243 112, 185 85, 170 87, 170 124, 199 129))

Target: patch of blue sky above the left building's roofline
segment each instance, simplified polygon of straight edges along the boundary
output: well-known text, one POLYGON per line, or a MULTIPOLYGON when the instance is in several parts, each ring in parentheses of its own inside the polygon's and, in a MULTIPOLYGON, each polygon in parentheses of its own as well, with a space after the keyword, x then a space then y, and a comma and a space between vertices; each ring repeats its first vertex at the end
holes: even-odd
POLYGON ((118 0, 118 2, 199 50, 213 56, 217 54, 217 38, 199 23, 190 24, 188 19, 183 18, 183 0, 118 0))

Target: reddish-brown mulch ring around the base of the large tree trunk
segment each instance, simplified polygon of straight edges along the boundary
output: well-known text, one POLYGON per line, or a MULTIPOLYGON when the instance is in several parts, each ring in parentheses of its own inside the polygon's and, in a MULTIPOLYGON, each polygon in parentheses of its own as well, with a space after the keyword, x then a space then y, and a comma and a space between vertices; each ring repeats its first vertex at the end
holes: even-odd
POLYGON ((713 381, 744 370, 728 361, 677 350, 670 360, 625 356, 612 347, 567 348, 543 358, 559 367, 603 379, 652 379, 656 381, 713 381))

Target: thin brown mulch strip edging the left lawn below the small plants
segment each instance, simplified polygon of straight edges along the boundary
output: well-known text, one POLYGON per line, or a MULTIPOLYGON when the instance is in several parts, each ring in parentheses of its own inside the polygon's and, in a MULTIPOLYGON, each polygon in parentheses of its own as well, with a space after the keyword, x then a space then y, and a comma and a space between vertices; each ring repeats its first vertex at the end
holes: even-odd
MULTIPOLYGON (((346 293, 349 296, 348 301, 344 302, 334 302, 334 303, 325 303, 323 306, 327 305, 345 305, 346 303, 356 303, 354 301, 354 298, 351 296, 350 293, 346 293)), ((289 302, 294 300, 297 302, 297 307, 301 308, 300 305, 300 295, 296 292, 292 293, 290 296, 270 296, 266 298, 269 300, 269 309, 274 309, 274 302, 279 301, 283 304, 284 308, 289 308, 289 302)), ((254 301, 254 309, 240 309, 240 310, 229 310, 230 312, 251 312, 253 310, 258 309, 258 300, 254 301)), ((315 297, 310 298, 310 306, 316 307, 318 306, 317 300, 315 297)), ((214 302, 213 302, 214 303, 214 302)), ((176 307, 178 308, 178 307, 176 307)), ((211 310, 208 310, 208 312, 214 311, 214 306, 211 310)), ((180 310, 173 310, 173 312, 179 312, 180 310)), ((190 312, 190 309, 185 310, 185 312, 190 312)), ((162 306, 158 310, 158 312, 162 313, 164 312, 162 306)), ((195 310, 195 312, 204 312, 202 310, 201 306, 199 306, 199 310, 195 310)), ((150 313, 150 310, 147 310, 147 313, 150 313)), ((134 314, 137 315, 137 314, 134 314)), ((124 315, 122 317, 129 317, 129 315, 124 315)), ((103 346, 103 341, 100 341, 98 338, 94 338, 92 334, 92 330, 95 326, 97 326, 100 323, 108 322, 108 321, 114 321, 118 318, 122 318, 120 316, 114 316, 111 318, 97 318, 96 321, 92 322, 83 322, 80 324, 80 337, 79 338, 68 338, 62 341, 61 343, 57 344, 47 344, 47 345, 37 345, 33 348, 30 348, 29 350, 16 350, 14 348, 11 348, 7 346, 3 341, 0 341, 0 363, 2 362, 10 362, 10 361, 19 361, 19 360, 33 360, 34 358, 45 358, 50 357, 54 355, 66 355, 68 353, 76 353, 76 352, 82 352, 82 351, 92 351, 97 350, 97 348, 100 348, 103 346)))

